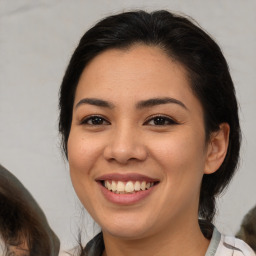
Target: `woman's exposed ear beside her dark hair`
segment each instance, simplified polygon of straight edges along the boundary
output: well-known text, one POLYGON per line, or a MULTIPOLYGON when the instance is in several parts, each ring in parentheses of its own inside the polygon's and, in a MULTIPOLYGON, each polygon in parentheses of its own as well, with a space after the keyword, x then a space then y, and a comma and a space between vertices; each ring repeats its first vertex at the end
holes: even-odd
POLYGON ((228 123, 222 123, 219 130, 213 132, 207 146, 205 161, 205 174, 214 173, 223 163, 228 150, 230 127, 228 123))

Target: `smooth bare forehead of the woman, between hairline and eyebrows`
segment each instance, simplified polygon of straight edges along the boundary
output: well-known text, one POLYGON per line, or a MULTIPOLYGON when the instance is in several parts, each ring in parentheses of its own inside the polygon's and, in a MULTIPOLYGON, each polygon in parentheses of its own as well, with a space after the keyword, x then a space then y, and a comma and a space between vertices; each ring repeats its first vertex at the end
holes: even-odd
POLYGON ((141 100, 167 95, 194 98, 186 69, 157 46, 134 45, 92 59, 78 82, 75 102, 85 96, 141 100))

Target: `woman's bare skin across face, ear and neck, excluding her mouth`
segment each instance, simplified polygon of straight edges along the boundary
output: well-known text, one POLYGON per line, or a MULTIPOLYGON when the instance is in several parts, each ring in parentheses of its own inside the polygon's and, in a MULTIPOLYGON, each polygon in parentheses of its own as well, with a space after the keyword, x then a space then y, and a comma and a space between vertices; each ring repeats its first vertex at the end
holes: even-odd
POLYGON ((204 173, 221 165, 228 132, 222 124, 205 140, 203 109, 186 70, 158 47, 135 45, 95 57, 77 86, 68 159, 75 191, 102 228, 104 255, 205 255, 209 241, 197 221, 200 185, 204 173), (166 97, 174 102, 138 108, 166 97), (111 106, 82 103, 85 98, 111 106), (92 123, 91 115, 101 116, 101 123, 92 123), (159 184, 143 200, 115 204, 96 182, 113 172, 159 184))

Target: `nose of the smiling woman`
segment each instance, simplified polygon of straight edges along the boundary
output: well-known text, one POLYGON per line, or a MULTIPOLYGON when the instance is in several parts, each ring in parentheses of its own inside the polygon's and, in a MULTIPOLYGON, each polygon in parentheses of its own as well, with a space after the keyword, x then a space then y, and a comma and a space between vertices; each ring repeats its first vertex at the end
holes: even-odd
POLYGON ((142 137, 134 129, 124 126, 113 131, 104 149, 104 158, 120 164, 127 164, 131 160, 144 161, 147 150, 142 137))

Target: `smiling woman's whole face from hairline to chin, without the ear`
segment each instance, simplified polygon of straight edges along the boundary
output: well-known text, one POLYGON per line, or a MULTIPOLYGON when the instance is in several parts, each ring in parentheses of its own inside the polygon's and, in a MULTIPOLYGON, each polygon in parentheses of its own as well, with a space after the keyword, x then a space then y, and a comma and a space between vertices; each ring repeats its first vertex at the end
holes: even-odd
POLYGON ((207 148, 186 71, 161 49, 107 50, 86 66, 68 159, 75 191, 103 232, 142 238, 197 221, 207 148))

